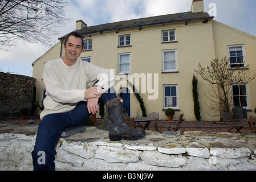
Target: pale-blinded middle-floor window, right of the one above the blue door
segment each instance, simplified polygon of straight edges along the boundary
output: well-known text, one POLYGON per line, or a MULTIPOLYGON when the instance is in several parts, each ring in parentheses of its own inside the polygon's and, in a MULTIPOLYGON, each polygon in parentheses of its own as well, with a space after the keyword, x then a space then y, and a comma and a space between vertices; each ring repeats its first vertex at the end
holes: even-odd
POLYGON ((177 71, 177 50, 162 51, 162 71, 177 71))

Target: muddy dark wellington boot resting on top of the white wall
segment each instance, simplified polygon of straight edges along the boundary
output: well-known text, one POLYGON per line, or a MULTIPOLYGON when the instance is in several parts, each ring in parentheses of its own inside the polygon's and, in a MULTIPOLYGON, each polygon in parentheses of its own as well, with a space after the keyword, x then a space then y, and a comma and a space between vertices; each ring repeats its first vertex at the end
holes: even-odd
POLYGON ((108 101, 107 107, 109 139, 111 141, 128 139, 136 140, 146 135, 145 130, 137 130, 129 127, 123 117, 123 98, 114 98, 108 101))

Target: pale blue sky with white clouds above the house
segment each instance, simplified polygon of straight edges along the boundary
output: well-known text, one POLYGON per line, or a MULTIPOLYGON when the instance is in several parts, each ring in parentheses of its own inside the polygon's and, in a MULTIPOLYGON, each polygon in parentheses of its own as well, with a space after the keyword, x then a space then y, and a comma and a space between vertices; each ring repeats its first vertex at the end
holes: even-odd
MULTIPOLYGON (((66 0, 65 26, 58 27, 59 35, 52 37, 52 46, 58 38, 75 30, 76 20, 82 19, 87 26, 119 22, 122 20, 188 12, 192 0, 66 0)), ((214 20, 256 36, 255 0, 204 0, 205 12, 214 20), (214 6, 213 6, 214 5, 214 6), (214 10, 216 7, 216 11, 214 10)), ((19 45, 5 51, 0 47, 0 72, 32 76, 32 63, 51 47, 22 40, 19 45)))

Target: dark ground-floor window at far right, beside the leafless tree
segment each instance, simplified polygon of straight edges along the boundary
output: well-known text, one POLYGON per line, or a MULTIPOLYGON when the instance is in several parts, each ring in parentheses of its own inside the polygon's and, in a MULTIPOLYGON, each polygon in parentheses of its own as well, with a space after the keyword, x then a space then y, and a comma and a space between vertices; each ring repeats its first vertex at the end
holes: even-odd
POLYGON ((232 102, 234 106, 243 106, 249 109, 249 95, 247 84, 234 84, 232 85, 232 102))

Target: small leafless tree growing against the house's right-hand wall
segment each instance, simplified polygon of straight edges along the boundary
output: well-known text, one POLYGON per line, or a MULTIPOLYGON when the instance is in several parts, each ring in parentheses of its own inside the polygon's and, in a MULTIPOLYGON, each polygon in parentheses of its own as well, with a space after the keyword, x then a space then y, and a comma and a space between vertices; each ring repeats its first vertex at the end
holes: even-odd
POLYGON ((214 59, 206 68, 202 67, 201 63, 198 64, 198 71, 195 70, 194 72, 208 81, 213 89, 213 93, 209 93, 209 96, 205 94, 210 101, 207 104, 210 109, 230 113, 232 106, 231 86, 245 84, 255 79, 255 74, 254 76, 246 74, 247 68, 249 65, 243 69, 230 68, 229 59, 226 57, 222 60, 214 59))

